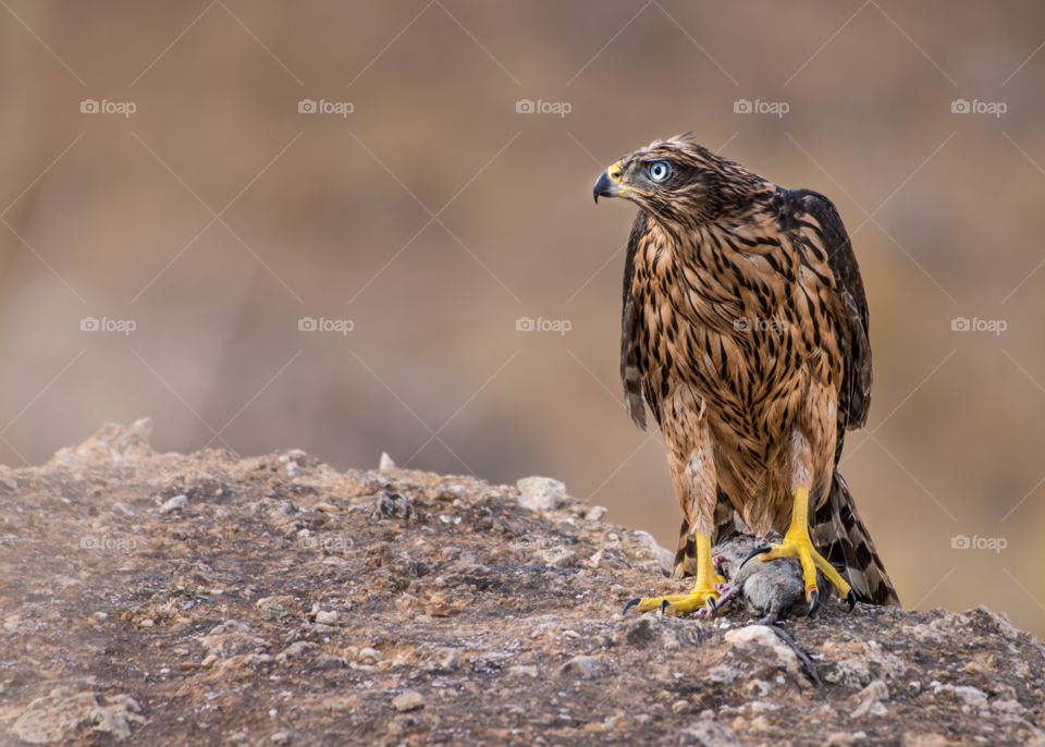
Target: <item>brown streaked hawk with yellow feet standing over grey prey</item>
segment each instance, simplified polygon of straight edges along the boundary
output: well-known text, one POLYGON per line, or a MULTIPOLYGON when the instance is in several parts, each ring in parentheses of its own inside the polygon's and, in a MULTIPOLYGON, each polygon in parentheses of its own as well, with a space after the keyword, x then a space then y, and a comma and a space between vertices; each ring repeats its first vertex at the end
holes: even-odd
POLYGON ((835 206, 691 133, 624 157, 594 195, 640 208, 620 378, 635 425, 646 430, 648 404, 664 437, 685 517, 674 576, 697 576, 691 593, 628 607, 716 613, 711 546, 738 522, 783 535, 752 555, 797 558, 810 612, 817 571, 850 609, 899 607, 837 470, 846 431, 866 423, 872 376, 868 301, 835 206))

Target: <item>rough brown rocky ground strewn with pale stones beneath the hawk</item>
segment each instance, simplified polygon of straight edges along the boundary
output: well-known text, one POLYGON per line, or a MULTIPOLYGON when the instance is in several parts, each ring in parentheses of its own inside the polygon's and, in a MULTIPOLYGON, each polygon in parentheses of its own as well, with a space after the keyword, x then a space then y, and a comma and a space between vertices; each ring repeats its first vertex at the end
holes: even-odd
POLYGON ((0 467, 0 744, 1045 745, 1045 647, 985 608, 788 620, 821 688, 739 609, 622 616, 686 584, 552 482, 150 429, 0 467))

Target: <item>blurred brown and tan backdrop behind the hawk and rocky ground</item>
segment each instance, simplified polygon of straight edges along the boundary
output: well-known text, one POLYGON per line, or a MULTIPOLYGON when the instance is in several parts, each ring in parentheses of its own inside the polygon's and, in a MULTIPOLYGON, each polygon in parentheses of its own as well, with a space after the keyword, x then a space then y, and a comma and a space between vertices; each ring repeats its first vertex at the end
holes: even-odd
POLYGON ((618 379, 635 210, 592 184, 692 130, 853 235, 843 472, 901 600, 1045 635, 1043 41, 1032 2, 7 0, 0 462, 148 415, 159 451, 552 476, 674 547, 618 379))

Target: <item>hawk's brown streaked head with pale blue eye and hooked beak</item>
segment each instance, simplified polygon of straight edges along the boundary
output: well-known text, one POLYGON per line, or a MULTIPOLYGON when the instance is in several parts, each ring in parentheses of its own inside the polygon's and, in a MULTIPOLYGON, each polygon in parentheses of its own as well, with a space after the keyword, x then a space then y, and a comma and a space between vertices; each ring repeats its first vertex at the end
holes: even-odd
POLYGON ((686 133, 636 150, 602 172, 595 201, 624 197, 659 223, 691 226, 743 215, 769 186, 686 133))

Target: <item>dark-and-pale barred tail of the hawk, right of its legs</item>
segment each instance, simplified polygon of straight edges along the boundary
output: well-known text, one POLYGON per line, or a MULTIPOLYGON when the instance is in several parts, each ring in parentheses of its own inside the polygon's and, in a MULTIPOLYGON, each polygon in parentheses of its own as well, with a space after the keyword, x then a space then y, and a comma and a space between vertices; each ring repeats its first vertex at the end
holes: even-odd
POLYGON ((901 607, 849 486, 837 470, 827 500, 810 522, 810 534, 816 551, 839 568, 857 599, 868 604, 901 607))

